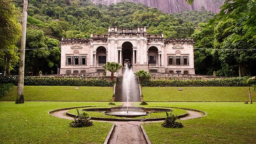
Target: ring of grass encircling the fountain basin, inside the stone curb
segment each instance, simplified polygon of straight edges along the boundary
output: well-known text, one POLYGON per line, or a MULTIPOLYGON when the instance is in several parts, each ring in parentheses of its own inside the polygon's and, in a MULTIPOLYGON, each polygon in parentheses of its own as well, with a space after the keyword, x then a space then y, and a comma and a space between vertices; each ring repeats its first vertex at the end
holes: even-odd
MULTIPOLYGON (((113 107, 113 106, 110 106, 110 107, 113 107)), ((97 107, 91 107, 91 108, 97 108, 97 107)), ((108 108, 108 107, 104 107, 104 108, 108 108)), ((157 107, 154 107, 154 108, 157 108, 157 107)), ((81 110, 81 109, 85 109, 85 108, 79 108, 79 110, 81 110)), ((173 113, 176 114, 176 115, 186 114, 186 111, 182 110, 182 109, 175 109, 175 108, 170 108, 170 109, 173 109, 173 113)), ((76 109, 71 109, 68 112, 71 113, 71 114, 77 115, 76 109)), ((84 112, 84 111, 80 111, 80 112, 84 112)), ((127 119, 125 117, 117 117, 117 116, 105 115, 102 112, 85 112, 85 113, 87 113, 90 117, 127 119)), ((149 118, 149 117, 150 118, 162 118, 162 117, 166 117, 166 112, 150 113, 149 115, 150 116, 146 115, 146 116, 143 116, 143 117, 145 117, 145 119, 149 118)), ((128 119, 141 119, 141 116, 134 117, 134 118, 128 118, 128 119)))

